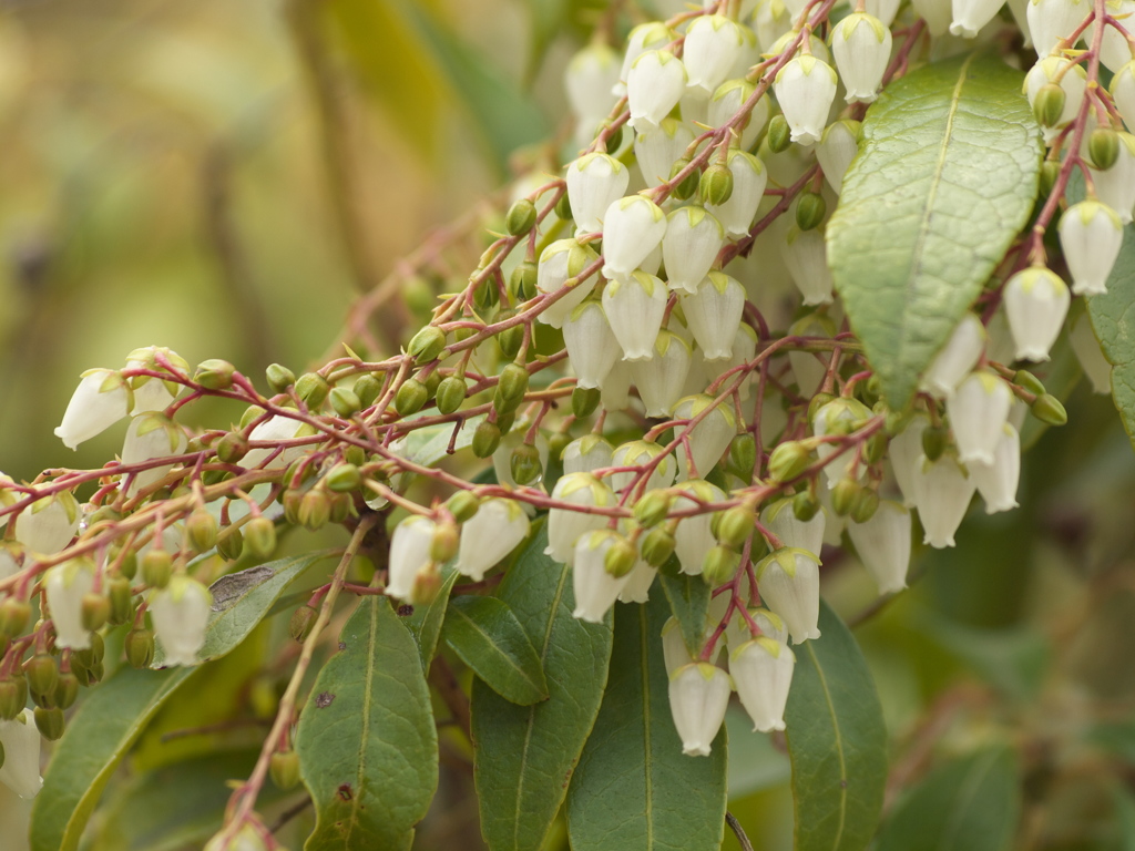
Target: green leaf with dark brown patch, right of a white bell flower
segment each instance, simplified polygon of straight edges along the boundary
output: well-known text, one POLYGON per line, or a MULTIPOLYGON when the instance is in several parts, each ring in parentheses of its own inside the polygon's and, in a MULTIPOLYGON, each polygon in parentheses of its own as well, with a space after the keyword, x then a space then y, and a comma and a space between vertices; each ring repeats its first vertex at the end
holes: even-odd
MULTIPOLYGON (((210 589, 213 592, 215 610, 209 616, 204 647, 197 654, 201 662, 224 656, 244 641, 268 615, 284 589, 311 565, 329 555, 328 550, 320 550, 291 556, 217 580, 210 589)), ((165 659, 166 654, 159 643, 152 667, 162 667, 165 659)))

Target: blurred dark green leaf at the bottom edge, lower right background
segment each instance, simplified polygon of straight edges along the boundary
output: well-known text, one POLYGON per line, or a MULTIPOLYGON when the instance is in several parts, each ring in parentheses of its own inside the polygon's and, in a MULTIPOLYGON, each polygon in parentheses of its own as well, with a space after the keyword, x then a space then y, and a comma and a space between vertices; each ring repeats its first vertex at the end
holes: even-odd
POLYGON ((1008 748, 936 768, 900 801, 878 851, 1009 851, 1020 817, 1018 774, 1008 748))

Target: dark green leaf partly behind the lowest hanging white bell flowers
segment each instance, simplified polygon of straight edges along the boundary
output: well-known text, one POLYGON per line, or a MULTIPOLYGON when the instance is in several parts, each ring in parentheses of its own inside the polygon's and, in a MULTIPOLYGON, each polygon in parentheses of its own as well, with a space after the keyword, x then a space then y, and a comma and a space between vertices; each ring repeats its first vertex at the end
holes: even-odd
POLYGON ((707 758, 687 757, 670 715, 662 626, 670 607, 615 607, 603 708, 568 791, 574 851, 716 851, 725 828, 722 725, 707 758))

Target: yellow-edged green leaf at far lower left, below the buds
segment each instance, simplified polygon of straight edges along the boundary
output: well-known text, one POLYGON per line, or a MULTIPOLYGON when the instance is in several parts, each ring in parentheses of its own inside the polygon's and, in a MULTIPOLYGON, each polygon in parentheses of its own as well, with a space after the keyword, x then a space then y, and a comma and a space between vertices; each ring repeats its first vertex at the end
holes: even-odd
POLYGON ((68 722, 32 808, 32 851, 74 851, 107 782, 146 723, 194 668, 121 667, 68 722))

